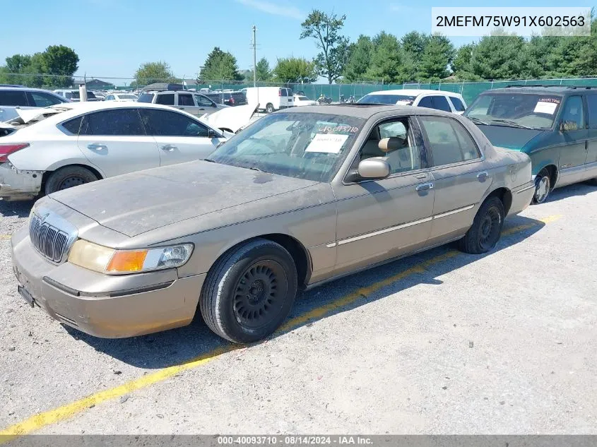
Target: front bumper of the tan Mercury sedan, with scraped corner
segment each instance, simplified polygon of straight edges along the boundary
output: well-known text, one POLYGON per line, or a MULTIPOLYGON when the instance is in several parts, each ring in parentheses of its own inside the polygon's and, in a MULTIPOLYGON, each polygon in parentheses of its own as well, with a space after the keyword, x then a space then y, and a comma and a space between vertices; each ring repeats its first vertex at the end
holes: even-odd
POLYGON ((178 278, 175 269, 103 275, 69 262, 55 265, 33 248, 26 227, 11 243, 17 280, 35 304, 96 337, 125 338, 186 326, 206 276, 178 278))

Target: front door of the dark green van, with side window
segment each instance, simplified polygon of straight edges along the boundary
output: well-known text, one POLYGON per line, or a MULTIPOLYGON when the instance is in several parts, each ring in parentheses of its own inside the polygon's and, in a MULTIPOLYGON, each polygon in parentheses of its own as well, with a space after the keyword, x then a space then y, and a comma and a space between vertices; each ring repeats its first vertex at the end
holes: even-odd
POLYGON ((560 131, 555 135, 560 147, 560 179, 558 186, 584 179, 587 158, 587 134, 584 105, 581 95, 569 96, 559 120, 560 131))

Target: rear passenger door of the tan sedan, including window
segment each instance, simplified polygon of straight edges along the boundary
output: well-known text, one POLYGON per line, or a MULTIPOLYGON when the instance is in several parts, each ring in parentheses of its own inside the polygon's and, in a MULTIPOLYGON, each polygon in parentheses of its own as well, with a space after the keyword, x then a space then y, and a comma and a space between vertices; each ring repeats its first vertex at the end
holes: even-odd
POLYGON ((420 116, 419 121, 434 178, 432 244, 471 226, 492 173, 483 166, 475 141, 459 121, 436 116, 420 116))

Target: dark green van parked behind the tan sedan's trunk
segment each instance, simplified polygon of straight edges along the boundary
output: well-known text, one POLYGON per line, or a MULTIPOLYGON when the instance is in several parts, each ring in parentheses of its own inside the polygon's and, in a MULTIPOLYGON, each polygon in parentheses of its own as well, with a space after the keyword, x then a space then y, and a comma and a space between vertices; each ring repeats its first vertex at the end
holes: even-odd
POLYGON ((597 179, 597 88, 513 86, 481 93, 464 116, 497 147, 533 162, 533 203, 552 189, 597 179))

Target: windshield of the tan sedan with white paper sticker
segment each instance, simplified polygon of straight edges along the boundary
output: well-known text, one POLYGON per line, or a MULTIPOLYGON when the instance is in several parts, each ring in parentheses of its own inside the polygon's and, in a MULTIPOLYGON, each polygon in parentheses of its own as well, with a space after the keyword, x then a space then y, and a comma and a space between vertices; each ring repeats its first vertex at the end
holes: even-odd
POLYGON ((330 181, 365 119, 320 113, 276 113, 220 146, 209 159, 299 179, 330 181))

